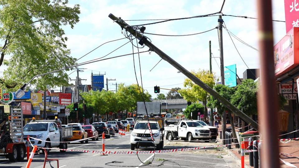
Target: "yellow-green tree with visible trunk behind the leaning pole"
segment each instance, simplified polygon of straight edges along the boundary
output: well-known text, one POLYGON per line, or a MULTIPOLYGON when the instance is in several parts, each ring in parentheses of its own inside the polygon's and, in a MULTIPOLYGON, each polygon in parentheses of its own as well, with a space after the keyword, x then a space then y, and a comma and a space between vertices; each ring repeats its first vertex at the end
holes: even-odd
MULTIPOLYGON (((213 87, 215 85, 216 78, 209 71, 198 70, 197 72, 191 71, 191 73, 196 77, 198 77, 202 82, 206 83, 208 86, 213 87)), ((204 120, 206 120, 206 116, 208 113, 206 108, 206 100, 207 100, 208 93, 200 86, 192 82, 192 80, 190 80, 189 78, 185 79, 184 87, 187 88, 180 89, 178 92, 187 101, 191 101, 191 102, 197 102, 197 100, 202 101, 205 107, 204 120)))

